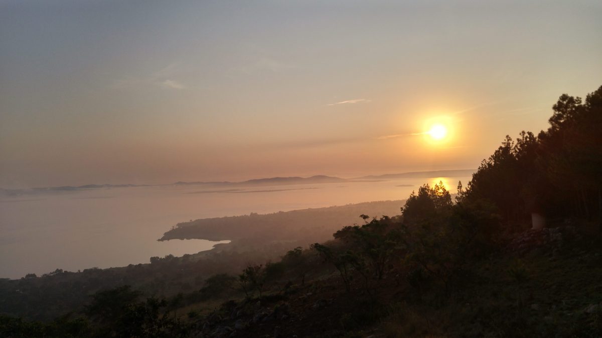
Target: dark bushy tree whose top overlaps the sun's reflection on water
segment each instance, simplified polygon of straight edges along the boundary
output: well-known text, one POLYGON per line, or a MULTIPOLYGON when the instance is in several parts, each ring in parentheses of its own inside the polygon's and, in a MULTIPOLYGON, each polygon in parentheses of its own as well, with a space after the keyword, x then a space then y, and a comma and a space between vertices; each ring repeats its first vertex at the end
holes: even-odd
POLYGON ((423 280, 426 272, 448 291, 468 257, 483 257, 494 247, 500 229, 495 207, 463 195, 452 204, 442 184, 435 188, 425 185, 406 202, 402 239, 407 247, 406 262, 416 271, 410 276, 412 282, 423 280))

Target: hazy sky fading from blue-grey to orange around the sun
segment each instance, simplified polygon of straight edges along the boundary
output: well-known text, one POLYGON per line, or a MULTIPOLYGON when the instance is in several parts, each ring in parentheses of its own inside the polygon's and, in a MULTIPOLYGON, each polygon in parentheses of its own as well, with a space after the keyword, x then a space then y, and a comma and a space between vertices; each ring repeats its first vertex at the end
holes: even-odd
POLYGON ((600 1, 0 1, 0 187, 476 168, 601 60, 600 1))

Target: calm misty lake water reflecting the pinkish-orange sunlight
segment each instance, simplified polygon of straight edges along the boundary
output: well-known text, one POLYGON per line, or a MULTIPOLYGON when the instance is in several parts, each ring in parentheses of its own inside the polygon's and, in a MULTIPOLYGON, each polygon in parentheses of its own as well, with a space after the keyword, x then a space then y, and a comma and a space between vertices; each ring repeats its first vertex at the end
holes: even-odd
POLYGON ((157 239, 175 224, 197 218, 402 200, 423 183, 439 180, 455 193, 458 180, 465 185, 470 177, 237 187, 243 192, 164 185, 0 197, 0 277, 126 266, 148 263, 151 256, 197 253, 217 242, 157 239))

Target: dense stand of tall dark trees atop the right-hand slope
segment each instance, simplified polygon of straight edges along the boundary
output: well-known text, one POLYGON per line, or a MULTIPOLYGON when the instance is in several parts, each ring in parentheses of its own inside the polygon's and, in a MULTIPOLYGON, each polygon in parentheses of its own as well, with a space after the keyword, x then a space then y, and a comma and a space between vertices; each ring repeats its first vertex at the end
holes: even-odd
MULTIPOLYGON (((602 87, 580 97, 563 94, 550 128, 535 136, 509 136, 468 183, 463 199, 489 201, 507 223, 532 212, 548 218, 585 218, 602 213, 602 87)), ((601 224, 602 229, 602 224, 601 224)))

